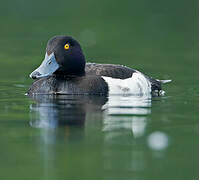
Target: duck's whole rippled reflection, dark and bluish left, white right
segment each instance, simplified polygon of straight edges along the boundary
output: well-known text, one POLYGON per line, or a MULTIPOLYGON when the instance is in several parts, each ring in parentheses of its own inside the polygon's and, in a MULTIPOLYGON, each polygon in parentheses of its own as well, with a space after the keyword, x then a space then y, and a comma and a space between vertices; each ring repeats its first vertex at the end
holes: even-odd
POLYGON ((31 98, 36 104, 30 105, 30 125, 36 128, 84 126, 86 117, 93 119, 89 115, 100 112, 104 132, 128 129, 134 137, 141 137, 147 125, 146 115, 151 113, 150 96, 35 95, 31 98))

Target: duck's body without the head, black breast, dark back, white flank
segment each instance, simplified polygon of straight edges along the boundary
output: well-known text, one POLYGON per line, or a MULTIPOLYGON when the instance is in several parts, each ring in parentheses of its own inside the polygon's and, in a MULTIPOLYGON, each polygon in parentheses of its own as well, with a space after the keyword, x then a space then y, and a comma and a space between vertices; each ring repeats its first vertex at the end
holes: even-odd
POLYGON ((108 95, 155 92, 158 95, 161 91, 160 81, 122 65, 87 63, 85 71, 85 75, 80 77, 58 74, 38 79, 28 93, 108 95))

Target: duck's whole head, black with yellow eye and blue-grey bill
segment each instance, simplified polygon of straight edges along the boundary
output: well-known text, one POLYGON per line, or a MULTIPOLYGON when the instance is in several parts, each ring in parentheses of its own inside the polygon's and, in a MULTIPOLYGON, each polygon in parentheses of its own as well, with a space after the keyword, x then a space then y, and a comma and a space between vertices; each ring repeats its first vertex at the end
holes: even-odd
POLYGON ((83 76, 85 58, 80 44, 70 36, 55 36, 46 46, 46 55, 41 65, 30 77, 33 79, 52 74, 83 76))

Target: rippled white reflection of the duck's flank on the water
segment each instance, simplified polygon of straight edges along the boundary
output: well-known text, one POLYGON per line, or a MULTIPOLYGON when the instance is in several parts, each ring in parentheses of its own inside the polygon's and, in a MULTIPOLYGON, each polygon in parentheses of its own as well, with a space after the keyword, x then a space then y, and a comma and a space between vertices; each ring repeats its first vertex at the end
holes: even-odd
POLYGON ((134 137, 144 134, 148 117, 151 113, 150 96, 111 96, 103 106, 105 132, 131 130, 134 137))

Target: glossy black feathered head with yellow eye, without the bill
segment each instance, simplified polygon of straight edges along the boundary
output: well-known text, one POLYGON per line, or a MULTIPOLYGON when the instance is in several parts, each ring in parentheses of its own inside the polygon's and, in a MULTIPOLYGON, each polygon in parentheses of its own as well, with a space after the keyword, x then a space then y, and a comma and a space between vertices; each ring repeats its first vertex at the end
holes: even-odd
POLYGON ((54 52, 59 69, 54 73, 84 75, 85 58, 80 44, 70 36, 55 36, 47 43, 48 55, 54 52))

